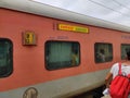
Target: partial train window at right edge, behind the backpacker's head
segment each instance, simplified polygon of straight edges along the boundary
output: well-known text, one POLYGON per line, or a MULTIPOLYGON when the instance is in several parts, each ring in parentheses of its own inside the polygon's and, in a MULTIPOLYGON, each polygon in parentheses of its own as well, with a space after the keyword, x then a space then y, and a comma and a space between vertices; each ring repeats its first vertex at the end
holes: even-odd
POLYGON ((130 45, 122 44, 121 45, 121 60, 127 58, 127 51, 130 50, 130 45))

